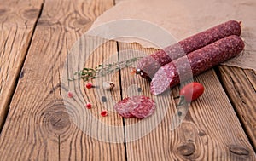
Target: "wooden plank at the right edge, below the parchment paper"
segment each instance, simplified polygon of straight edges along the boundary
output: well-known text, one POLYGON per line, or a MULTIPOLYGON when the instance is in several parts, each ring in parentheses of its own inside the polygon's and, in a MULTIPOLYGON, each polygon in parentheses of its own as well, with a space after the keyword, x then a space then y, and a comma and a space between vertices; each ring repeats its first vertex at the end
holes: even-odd
POLYGON ((224 88, 256 149, 256 74, 253 70, 219 66, 224 88))

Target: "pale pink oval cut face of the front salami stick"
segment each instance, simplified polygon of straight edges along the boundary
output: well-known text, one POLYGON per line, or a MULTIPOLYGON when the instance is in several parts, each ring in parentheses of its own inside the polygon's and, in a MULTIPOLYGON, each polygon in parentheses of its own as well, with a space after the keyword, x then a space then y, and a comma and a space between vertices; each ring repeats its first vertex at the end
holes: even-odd
POLYGON ((150 83, 150 92, 153 95, 159 95, 166 89, 170 88, 170 83, 175 77, 175 66, 168 64, 168 66, 162 66, 158 72, 155 73, 154 78, 150 83), (170 72, 172 71, 172 72, 170 72))

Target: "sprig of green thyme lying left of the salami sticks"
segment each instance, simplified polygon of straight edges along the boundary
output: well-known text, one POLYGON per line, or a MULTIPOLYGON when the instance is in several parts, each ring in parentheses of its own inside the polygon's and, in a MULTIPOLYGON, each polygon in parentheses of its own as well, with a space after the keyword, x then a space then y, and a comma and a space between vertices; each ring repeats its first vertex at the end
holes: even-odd
MULTIPOLYGON (((136 62, 141 58, 143 57, 135 57, 129 60, 123 60, 120 62, 113 62, 109 64, 100 64, 95 68, 84 67, 83 70, 75 72, 74 75, 78 75, 79 78, 83 78, 84 81, 88 81, 90 79, 94 79, 97 77, 106 76, 107 74, 110 74, 112 72, 117 72, 124 67, 131 66, 132 63, 136 62)), ((73 79, 69 79, 69 80, 73 80, 73 79)))

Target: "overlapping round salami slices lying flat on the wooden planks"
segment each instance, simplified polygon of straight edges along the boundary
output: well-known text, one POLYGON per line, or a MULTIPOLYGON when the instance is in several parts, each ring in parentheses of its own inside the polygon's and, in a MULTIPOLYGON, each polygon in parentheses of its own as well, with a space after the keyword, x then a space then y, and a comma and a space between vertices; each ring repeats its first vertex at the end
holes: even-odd
POLYGON ((114 109, 124 118, 147 118, 153 114, 155 103, 147 96, 138 95, 119 101, 114 109))

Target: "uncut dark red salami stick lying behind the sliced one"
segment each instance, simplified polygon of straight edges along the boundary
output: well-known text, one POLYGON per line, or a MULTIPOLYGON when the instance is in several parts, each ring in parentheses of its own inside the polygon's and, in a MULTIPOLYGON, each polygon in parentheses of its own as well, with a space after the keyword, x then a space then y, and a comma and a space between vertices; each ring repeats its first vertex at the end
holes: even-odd
POLYGON ((148 55, 137 62, 137 74, 143 78, 151 79, 160 66, 170 63, 172 60, 187 55, 196 49, 201 49, 207 44, 213 43, 221 38, 230 35, 240 36, 241 26, 236 20, 230 20, 218 26, 214 26, 207 31, 200 32, 188 37, 166 49, 161 49, 152 55, 148 55))

